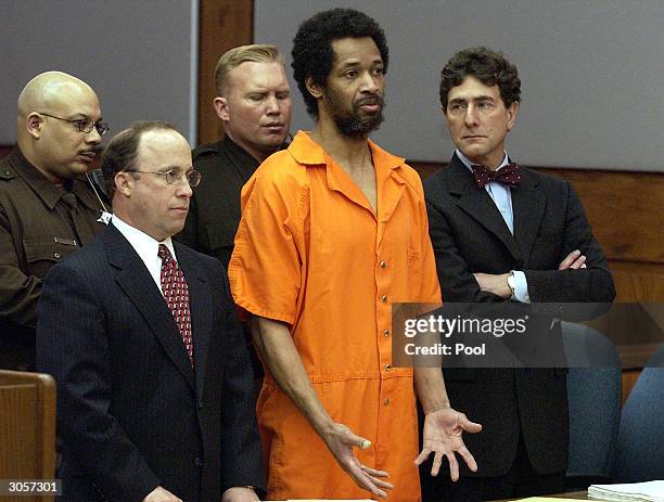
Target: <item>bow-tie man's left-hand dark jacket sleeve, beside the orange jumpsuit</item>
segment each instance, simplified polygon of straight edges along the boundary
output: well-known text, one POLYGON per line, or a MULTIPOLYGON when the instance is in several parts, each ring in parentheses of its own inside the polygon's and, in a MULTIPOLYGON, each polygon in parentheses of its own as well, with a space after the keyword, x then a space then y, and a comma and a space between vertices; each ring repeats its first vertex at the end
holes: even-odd
POLYGON ((443 291, 443 301, 499 303, 498 295, 484 292, 461 257, 451 235, 447 218, 426 202, 429 234, 436 259, 436 272, 443 291))

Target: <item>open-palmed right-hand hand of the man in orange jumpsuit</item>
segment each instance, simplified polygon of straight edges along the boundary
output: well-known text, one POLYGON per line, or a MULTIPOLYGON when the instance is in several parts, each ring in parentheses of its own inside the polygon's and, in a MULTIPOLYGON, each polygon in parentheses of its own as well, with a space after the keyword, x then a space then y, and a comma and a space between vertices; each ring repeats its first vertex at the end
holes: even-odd
POLYGON ((433 452, 431 475, 437 476, 443 455, 445 455, 449 462, 451 480, 456 481, 459 479, 459 463, 455 454, 457 452, 472 472, 477 471, 477 463, 461 438, 464 430, 472 434, 478 433, 482 430, 482 425, 471 422, 463 413, 451 408, 427 413, 424 417, 422 452, 416 459, 416 464, 420 465, 433 452))

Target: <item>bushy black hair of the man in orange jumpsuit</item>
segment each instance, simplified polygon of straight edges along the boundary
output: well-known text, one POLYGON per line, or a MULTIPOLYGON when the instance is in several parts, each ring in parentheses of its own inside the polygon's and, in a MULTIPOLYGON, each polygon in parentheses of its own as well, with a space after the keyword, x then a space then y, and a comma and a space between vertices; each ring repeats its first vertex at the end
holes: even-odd
POLYGON ((299 25, 293 39, 293 77, 307 105, 307 113, 314 118, 318 118, 318 103, 307 90, 307 78, 324 86, 334 64, 332 42, 349 37, 371 37, 383 59, 383 72, 387 72, 390 51, 385 33, 373 18, 354 9, 319 12, 299 25))

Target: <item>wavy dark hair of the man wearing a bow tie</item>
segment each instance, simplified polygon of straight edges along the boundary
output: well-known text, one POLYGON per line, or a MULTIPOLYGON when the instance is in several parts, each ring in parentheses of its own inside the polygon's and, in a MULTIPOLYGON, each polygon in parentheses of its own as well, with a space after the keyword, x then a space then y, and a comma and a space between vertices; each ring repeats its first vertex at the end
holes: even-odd
POLYGON ((440 105, 447 110, 447 96, 452 87, 465 77, 475 77, 488 87, 498 86, 506 107, 521 101, 521 80, 516 66, 502 52, 486 47, 471 47, 457 52, 440 72, 440 105))

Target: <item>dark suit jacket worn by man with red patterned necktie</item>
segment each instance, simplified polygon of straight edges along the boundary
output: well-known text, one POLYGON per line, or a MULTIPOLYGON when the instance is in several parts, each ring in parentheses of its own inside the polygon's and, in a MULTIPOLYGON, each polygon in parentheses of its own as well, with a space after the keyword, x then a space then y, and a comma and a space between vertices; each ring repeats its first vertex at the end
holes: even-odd
POLYGON ((110 224, 51 269, 37 358, 58 382, 64 499, 187 501, 264 486, 251 366, 218 260, 175 243, 190 291, 192 370, 138 254, 110 224))

